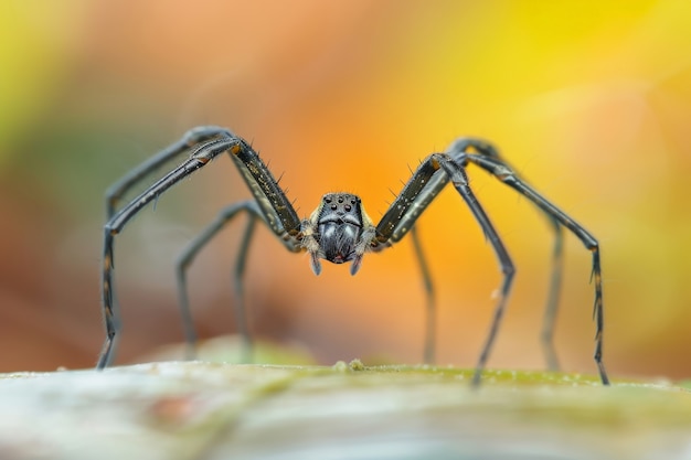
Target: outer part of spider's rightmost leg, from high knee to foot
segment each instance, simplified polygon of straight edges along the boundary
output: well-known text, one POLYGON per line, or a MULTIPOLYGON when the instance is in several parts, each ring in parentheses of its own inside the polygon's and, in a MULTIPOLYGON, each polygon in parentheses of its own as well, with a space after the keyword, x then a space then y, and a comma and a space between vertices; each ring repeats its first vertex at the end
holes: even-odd
MULTIPOLYGON (((466 156, 467 160, 479 165, 485 169, 497 179, 509 185, 510 188, 518 191, 520 194, 529 199, 533 202, 538 207, 540 207, 544 213, 550 215, 553 220, 557 221, 561 225, 568 228, 571 233, 573 233, 583 245, 588 249, 592 254, 592 272, 591 280, 595 285, 595 300, 593 304, 593 317, 596 323, 596 332, 595 332, 595 353, 594 359, 597 364, 597 368, 599 372, 599 377, 603 382, 603 385, 609 384, 609 378, 607 377, 607 372, 605 371, 605 365, 603 363, 603 329, 604 329, 604 312, 603 312, 603 281, 602 281, 602 268, 599 260, 599 244, 597 239, 587 232, 581 224, 571 218, 566 213, 556 207, 550 201, 548 201, 544 196, 538 193, 533 188, 531 188, 528 183, 522 181, 503 161, 498 160, 491 157, 482 157, 476 154, 466 156)), ((561 242, 559 243, 561 245, 561 242)), ((557 261, 561 265, 561 247, 555 249, 555 253, 559 254, 560 260, 557 261)), ((561 276, 561 275, 557 275, 561 276)))

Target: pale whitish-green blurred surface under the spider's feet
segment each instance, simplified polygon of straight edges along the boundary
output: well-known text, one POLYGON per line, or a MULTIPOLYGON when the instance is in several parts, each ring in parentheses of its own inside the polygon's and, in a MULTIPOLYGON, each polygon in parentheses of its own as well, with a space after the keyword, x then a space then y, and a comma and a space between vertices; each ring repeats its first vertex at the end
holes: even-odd
POLYGON ((689 459, 691 393, 570 374, 164 362, 0 375, 1 459, 689 459))

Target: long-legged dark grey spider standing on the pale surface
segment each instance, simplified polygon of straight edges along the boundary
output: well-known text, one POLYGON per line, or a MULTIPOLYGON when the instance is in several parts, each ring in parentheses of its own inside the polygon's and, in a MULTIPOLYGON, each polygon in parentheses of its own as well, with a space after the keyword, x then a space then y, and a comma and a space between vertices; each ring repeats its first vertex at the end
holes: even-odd
POLYGON ((378 253, 411 234, 415 254, 421 267, 427 299, 427 324, 424 354, 425 361, 434 360, 434 289, 427 264, 423 256, 418 237, 415 233, 415 222, 437 196, 444 186, 451 182, 466 205, 472 212, 482 228, 487 240, 492 246, 502 272, 502 280, 498 290, 493 315, 489 333, 482 345, 472 383, 479 384, 482 370, 486 366, 499 325, 504 313, 509 292, 511 290, 514 265, 504 244, 495 229, 491 221, 476 199, 466 174, 466 168, 472 163, 491 175, 514 189, 532 202, 549 220, 555 235, 553 247, 553 269, 551 288, 548 296, 545 325, 542 342, 545 349, 550 367, 556 367, 556 357, 552 349, 552 330, 556 312, 556 298, 562 278, 562 227, 573 233, 592 254, 591 281, 595 286, 594 319, 595 363, 600 381, 609 384, 605 366, 602 361, 603 349, 603 288, 599 261, 599 245, 595 237, 583 226, 577 224, 567 214, 548 201, 530 186, 511 167, 499 156, 498 150, 487 141, 477 138, 460 138, 442 153, 432 153, 425 158, 411 179, 405 183, 401 193, 395 197, 389 210, 376 225, 365 213, 359 196, 351 193, 327 193, 322 196, 317 210, 308 217, 300 220, 286 196, 286 192, 278 185, 278 181, 262 161, 252 146, 232 131, 214 127, 202 126, 189 130, 180 140, 161 150, 139 167, 129 171, 106 192, 106 207, 108 220, 104 226, 104 265, 102 278, 102 296, 106 339, 98 359, 97 368, 102 370, 109 364, 114 352, 114 340, 119 320, 114 309, 114 242, 115 237, 125 228, 127 223, 145 206, 156 201, 172 185, 188 178, 196 170, 209 164, 221 153, 227 152, 245 183, 249 188, 253 200, 235 203, 224 208, 217 220, 213 222, 200 236, 192 240, 182 253, 177 264, 178 289, 180 309, 183 317, 185 335, 190 344, 194 344, 196 336, 192 327, 192 319, 187 297, 185 270, 196 253, 240 213, 248 215, 241 250, 235 265, 235 291, 238 298, 236 314, 242 336, 249 345, 249 333, 245 324, 244 306, 242 301, 245 260, 251 237, 257 221, 266 224, 278 237, 278 240, 293 253, 307 252, 311 269, 315 275, 321 271, 321 261, 333 264, 350 263, 350 274, 355 275, 362 265, 366 253, 378 253), (164 163, 187 154, 187 159, 172 169, 141 194, 118 206, 125 193, 140 183, 145 176, 162 167, 164 163))

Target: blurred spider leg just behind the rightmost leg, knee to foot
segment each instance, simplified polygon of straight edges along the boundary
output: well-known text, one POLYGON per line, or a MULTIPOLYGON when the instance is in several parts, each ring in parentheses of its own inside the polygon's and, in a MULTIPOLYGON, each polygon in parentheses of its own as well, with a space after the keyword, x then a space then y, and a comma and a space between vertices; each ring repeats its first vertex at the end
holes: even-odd
MULTIPOLYGON (((509 163, 499 154, 499 151, 491 143, 478 139, 478 138, 460 138, 457 139, 449 148, 448 153, 451 157, 461 158, 465 161, 468 161, 468 157, 472 156, 485 156, 490 157, 501 163, 509 165, 509 163), (474 150, 469 152, 468 150, 474 150)), ((470 160, 472 160, 470 158, 470 160)), ((518 173, 514 172, 517 178, 520 178, 521 181, 525 182, 518 173)), ((532 204, 535 204, 534 202, 532 204)), ((536 205, 535 205, 536 206, 536 205)), ((550 277, 550 287, 548 290, 548 297, 544 306, 544 315, 542 320, 542 331, 540 333, 540 341, 542 343, 542 351, 545 357, 545 362, 548 364, 548 368, 550 371, 559 371, 559 360, 556 356, 556 351, 554 349, 554 327, 556 323, 556 312, 559 308, 559 297, 562 290, 562 274, 564 267, 564 257, 563 257, 563 240, 564 240, 564 232, 563 227, 560 224, 560 221, 554 218, 553 215, 542 210, 540 206, 536 206, 541 215, 545 216, 549 221, 550 227, 554 232, 554 243, 552 246, 552 269, 550 277)))

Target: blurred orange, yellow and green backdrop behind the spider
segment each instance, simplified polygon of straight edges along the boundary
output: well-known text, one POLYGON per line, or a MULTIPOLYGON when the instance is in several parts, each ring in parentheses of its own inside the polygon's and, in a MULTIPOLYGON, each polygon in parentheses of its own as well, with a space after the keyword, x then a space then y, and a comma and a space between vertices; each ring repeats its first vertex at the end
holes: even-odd
MULTIPOLYGON (((691 375, 691 4, 687 1, 0 3, 0 371, 89 367, 103 343, 104 191, 196 125, 252 140, 304 216, 328 191, 374 221, 410 168, 458 136, 495 142, 599 239, 613 376, 691 375)), ((471 184, 518 267, 491 367, 543 368, 552 235, 480 170, 471 184)), ((117 362, 182 341, 179 252, 247 197, 221 158, 116 239, 117 362)), ((500 282, 446 190, 418 221, 437 287, 437 363, 472 366, 500 282)), ((190 270, 202 338, 234 332, 235 223, 190 270)), ((592 361, 591 255, 573 235, 555 344, 592 361)), ((262 340, 336 360, 422 360, 411 243, 317 278, 257 232, 246 274, 262 340)))

